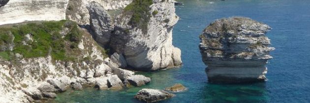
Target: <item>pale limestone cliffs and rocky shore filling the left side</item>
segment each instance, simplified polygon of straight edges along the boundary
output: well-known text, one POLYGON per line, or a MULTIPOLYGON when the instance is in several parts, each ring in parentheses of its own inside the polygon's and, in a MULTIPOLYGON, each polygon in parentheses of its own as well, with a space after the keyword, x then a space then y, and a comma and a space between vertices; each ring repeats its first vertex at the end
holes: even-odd
MULTIPOLYGON (((179 19, 174 13, 174 2, 171 0, 150 0, 152 3, 146 4, 148 9, 145 11, 150 14, 147 17, 150 20, 140 22, 148 26, 145 29, 141 28, 142 26, 137 26, 139 24, 129 24, 131 18, 134 18, 131 13, 136 11, 133 8, 125 7, 134 5, 135 1, 137 0, 122 0, 121 2, 59 0, 59 2, 52 2, 48 6, 51 6, 50 10, 60 13, 36 12, 29 9, 37 15, 21 14, 29 15, 29 18, 23 18, 25 20, 20 21, 14 20, 18 16, 0 20, 4 24, 14 24, 24 21, 67 19, 75 21, 80 26, 76 27, 77 25, 73 22, 61 21, 16 24, 7 26, 11 27, 10 29, 5 28, 6 26, 1 28, 7 29, 7 31, 0 33, 13 38, 10 42, 3 40, 5 45, 1 44, 0 49, 1 53, 8 55, 5 58, 0 55, 1 102, 39 103, 56 98, 56 93, 64 92, 68 88, 83 90, 83 87, 95 87, 106 90, 122 89, 129 85, 141 86, 149 83, 151 78, 135 75, 134 72, 125 69, 154 71, 182 65, 181 50, 172 45, 172 28, 179 19), (125 10, 118 16, 111 17, 106 12, 106 10, 120 9, 125 10), (49 17, 48 15, 53 16, 49 17), (13 51, 17 48, 17 43, 13 40, 19 35, 21 35, 20 41, 23 46, 32 51, 32 46, 38 40, 38 34, 27 30, 25 32, 28 34, 11 34, 11 29, 33 24, 39 26, 61 24, 63 26, 54 27, 52 30, 55 29, 55 31, 49 32, 50 35, 59 35, 47 36, 51 38, 47 38, 47 40, 52 41, 47 41, 46 45, 50 45, 51 48, 38 50, 46 52, 46 54, 39 52, 40 56, 36 56, 36 54, 27 51, 20 53, 13 51), (55 42, 55 40, 63 43, 55 42), (67 58, 63 58, 63 56, 67 58)), ((36 4, 40 7, 48 2, 38 1, 36 4)), ((28 3, 30 0, 10 0, 0 8, 0 14, 1 16, 11 15, 6 10, 16 11, 17 9, 14 9, 16 6, 13 6, 16 4, 24 4, 27 9, 28 3)), ((22 12, 26 9, 18 9, 18 11, 22 12)), ((45 31, 50 31, 50 29, 45 28, 45 31)), ((0 42, 2 43, 2 41, 0 42)))

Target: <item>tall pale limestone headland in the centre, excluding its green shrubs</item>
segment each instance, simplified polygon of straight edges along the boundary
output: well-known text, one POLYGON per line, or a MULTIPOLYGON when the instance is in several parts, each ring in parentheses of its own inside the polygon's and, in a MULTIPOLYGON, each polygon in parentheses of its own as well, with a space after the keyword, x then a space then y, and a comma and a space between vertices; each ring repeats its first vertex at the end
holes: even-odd
POLYGON ((147 26, 145 29, 128 25, 132 15, 118 16, 110 47, 123 54, 127 65, 135 70, 154 71, 180 66, 181 51, 172 45, 172 29, 179 20, 174 3, 153 0, 149 13, 149 21, 143 26, 147 26), (154 11, 158 13, 153 15, 154 11))

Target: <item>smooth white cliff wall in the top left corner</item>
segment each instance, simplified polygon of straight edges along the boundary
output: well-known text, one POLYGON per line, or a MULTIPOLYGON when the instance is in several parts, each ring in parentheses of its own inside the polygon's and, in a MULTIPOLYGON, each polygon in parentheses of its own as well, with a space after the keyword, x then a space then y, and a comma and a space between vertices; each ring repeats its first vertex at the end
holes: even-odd
POLYGON ((0 25, 65 19, 68 0, 9 0, 0 7, 0 25))

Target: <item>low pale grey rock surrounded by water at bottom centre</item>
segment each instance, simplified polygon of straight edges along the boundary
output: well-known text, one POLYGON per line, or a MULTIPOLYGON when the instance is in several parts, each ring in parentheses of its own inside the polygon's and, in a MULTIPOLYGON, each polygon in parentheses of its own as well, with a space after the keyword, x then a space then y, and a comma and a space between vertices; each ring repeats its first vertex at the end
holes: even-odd
POLYGON ((158 89, 142 89, 134 98, 146 103, 154 103, 173 97, 174 94, 158 89))

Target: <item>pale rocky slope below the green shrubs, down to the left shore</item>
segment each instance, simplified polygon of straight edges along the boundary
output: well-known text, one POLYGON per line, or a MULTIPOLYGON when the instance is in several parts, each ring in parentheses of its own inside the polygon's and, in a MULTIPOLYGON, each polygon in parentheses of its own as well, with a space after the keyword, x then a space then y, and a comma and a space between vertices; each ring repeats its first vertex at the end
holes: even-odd
POLYGON ((135 76, 134 72, 128 70, 116 70, 115 66, 121 66, 117 65, 120 59, 111 60, 86 29, 79 29, 82 38, 75 49, 78 51, 74 55, 77 61, 53 60, 51 55, 33 58, 21 56, 14 62, 0 58, 1 103, 29 103, 55 98, 55 93, 64 92, 70 87, 81 90, 82 86, 98 84, 101 89, 121 89, 124 87, 124 78, 135 76), (110 64, 113 65, 110 67, 110 64))

